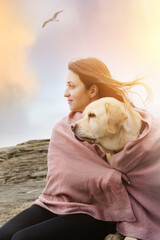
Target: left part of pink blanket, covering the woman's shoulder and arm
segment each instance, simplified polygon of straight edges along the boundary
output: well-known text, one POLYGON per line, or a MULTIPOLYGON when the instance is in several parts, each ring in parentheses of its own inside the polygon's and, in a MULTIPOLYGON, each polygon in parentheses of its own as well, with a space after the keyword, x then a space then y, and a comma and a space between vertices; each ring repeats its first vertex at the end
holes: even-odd
POLYGON ((54 127, 47 185, 34 204, 57 214, 86 213, 100 220, 133 222, 121 172, 97 153, 95 145, 79 142, 71 131, 70 124, 81 117, 71 113, 54 127))

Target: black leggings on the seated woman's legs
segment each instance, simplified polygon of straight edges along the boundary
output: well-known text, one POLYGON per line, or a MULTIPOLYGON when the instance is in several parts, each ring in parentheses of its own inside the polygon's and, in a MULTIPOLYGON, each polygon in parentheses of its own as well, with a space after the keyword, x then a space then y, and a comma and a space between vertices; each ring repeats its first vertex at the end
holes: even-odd
POLYGON ((56 215, 32 205, 0 228, 0 240, 104 240, 113 232, 115 223, 81 213, 56 215))

